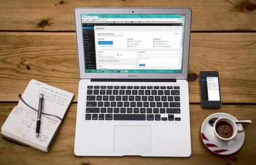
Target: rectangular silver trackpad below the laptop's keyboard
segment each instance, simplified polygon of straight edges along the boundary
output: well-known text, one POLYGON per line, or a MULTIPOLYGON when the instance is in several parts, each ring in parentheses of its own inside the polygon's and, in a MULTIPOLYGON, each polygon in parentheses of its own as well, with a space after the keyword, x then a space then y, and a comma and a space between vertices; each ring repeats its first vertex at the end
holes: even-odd
POLYGON ((114 152, 151 152, 151 126, 115 126, 114 152))

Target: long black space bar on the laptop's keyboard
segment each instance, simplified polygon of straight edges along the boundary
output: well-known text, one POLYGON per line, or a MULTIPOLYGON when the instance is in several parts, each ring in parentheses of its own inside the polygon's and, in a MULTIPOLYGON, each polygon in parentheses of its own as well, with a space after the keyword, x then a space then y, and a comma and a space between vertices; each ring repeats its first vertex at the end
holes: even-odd
POLYGON ((114 114, 114 121, 145 121, 146 114, 114 114))

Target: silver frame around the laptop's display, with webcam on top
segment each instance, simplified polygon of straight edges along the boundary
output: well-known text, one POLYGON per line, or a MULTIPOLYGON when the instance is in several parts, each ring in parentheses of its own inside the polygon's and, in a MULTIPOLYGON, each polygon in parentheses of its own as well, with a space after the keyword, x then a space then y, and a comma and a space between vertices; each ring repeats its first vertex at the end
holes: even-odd
POLYGON ((76 39, 80 78, 186 79, 188 74, 191 28, 190 8, 76 8, 76 39), (85 73, 81 14, 186 14, 182 73, 85 73))

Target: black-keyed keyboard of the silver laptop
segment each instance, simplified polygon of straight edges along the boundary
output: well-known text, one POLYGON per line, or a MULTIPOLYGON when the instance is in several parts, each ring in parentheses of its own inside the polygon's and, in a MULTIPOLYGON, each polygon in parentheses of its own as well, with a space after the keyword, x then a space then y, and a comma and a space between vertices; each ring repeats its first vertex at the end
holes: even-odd
POLYGON ((87 86, 86 120, 180 121, 179 86, 87 86))

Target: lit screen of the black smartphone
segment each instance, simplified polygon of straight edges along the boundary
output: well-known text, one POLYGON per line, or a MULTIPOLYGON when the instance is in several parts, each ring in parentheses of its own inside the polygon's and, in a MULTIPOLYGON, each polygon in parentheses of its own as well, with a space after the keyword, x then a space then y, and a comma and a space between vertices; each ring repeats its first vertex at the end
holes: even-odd
POLYGON ((220 101, 218 77, 201 77, 200 81, 203 101, 220 101))

